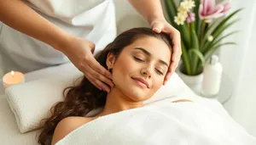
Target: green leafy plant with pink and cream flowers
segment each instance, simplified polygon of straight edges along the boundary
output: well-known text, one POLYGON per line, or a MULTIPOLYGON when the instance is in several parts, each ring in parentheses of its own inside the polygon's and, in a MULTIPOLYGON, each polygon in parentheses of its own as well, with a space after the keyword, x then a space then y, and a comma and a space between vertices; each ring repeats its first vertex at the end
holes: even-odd
POLYGON ((230 1, 215 3, 215 0, 165 0, 167 20, 181 32, 182 65, 180 70, 185 75, 199 75, 205 60, 219 47, 236 44, 221 42, 226 35, 223 32, 237 22, 231 20, 241 8, 220 19, 231 8, 230 1))

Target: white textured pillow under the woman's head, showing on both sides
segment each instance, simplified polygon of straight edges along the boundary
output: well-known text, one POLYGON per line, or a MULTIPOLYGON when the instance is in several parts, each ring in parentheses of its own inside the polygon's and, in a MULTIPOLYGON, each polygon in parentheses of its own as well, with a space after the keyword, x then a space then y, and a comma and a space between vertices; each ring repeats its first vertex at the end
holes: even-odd
MULTIPOLYGON (((58 67, 52 69, 58 70, 58 67)), ((50 69, 47 71, 49 72, 50 69)), ((59 72, 66 71, 68 71, 67 75, 29 81, 21 85, 10 86, 5 90, 10 109, 15 114, 21 133, 38 129, 40 121, 47 117, 52 105, 63 99, 63 89, 73 85, 73 82, 82 75, 79 70, 59 70, 59 72)), ((43 74, 40 70, 37 73, 43 74)), ((162 86, 154 94, 154 97, 148 99, 145 103, 177 96, 180 92, 183 92, 184 86, 183 81, 174 73, 166 86, 162 86)))

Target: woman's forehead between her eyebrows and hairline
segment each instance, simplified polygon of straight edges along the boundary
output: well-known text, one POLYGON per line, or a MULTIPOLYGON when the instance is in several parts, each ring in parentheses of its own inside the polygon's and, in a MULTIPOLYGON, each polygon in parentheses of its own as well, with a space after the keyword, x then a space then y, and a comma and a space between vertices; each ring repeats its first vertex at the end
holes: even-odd
POLYGON ((166 61, 166 63, 170 63, 171 61, 171 49, 167 46, 166 42, 160 38, 153 36, 137 38, 135 42, 132 42, 129 46, 125 47, 125 51, 140 52, 140 50, 134 49, 135 47, 143 47, 148 51, 148 53, 151 53, 154 58, 162 59, 166 61))

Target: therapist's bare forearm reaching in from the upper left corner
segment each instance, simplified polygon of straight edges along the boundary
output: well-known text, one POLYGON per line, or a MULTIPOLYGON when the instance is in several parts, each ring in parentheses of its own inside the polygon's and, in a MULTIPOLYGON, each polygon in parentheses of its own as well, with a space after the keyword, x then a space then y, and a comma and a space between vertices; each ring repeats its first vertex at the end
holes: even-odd
POLYGON ((61 51, 70 35, 45 20, 20 0, 0 0, 0 20, 17 31, 32 36, 61 51))

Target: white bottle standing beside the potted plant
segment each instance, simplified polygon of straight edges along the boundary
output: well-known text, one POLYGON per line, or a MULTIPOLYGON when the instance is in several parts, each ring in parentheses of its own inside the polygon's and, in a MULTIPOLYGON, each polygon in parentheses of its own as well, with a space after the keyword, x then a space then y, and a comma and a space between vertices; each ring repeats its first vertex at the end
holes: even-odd
POLYGON ((218 62, 218 56, 212 55, 209 63, 205 64, 203 70, 201 85, 202 96, 211 98, 218 94, 221 85, 222 71, 222 65, 218 62))

